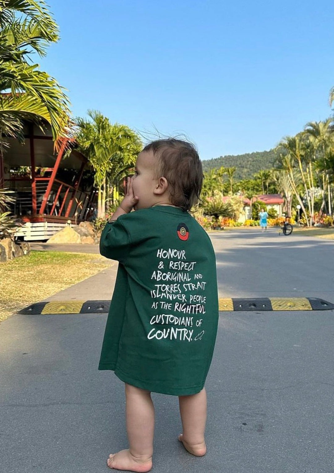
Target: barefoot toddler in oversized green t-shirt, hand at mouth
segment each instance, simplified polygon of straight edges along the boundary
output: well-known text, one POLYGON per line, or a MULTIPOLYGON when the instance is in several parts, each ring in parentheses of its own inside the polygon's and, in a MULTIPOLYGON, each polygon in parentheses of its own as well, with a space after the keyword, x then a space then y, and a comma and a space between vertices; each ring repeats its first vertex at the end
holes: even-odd
POLYGON ((109 455, 109 468, 152 468, 151 392, 179 397, 178 440, 195 456, 206 453, 204 382, 219 313, 214 250, 189 213, 202 180, 191 143, 149 143, 101 235, 101 254, 119 266, 99 369, 113 370, 125 383, 129 440, 129 449, 109 455))

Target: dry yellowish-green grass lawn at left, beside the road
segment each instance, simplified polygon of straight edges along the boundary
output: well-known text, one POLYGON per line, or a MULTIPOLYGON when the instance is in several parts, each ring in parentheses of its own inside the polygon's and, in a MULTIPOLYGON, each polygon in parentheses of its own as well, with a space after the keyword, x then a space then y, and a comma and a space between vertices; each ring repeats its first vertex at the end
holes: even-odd
POLYGON ((100 254, 32 251, 0 263, 0 321, 110 266, 100 254))

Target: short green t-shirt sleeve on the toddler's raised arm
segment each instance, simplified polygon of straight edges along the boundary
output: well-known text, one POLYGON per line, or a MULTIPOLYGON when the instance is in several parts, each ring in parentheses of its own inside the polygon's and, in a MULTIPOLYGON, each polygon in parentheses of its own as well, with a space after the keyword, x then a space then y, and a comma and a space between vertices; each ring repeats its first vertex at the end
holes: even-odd
POLYGON ((100 238, 100 253, 123 263, 130 249, 130 236, 122 221, 107 222, 100 238))

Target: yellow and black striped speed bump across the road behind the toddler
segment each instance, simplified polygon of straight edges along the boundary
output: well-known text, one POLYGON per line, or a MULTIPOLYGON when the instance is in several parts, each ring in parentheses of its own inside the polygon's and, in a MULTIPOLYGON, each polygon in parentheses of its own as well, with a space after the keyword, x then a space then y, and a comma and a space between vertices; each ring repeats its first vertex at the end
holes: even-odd
MULTIPOLYGON (((109 300, 38 302, 18 312, 23 315, 44 314, 105 314, 109 312, 109 300)), ((287 311, 331 310, 334 304, 319 298, 220 298, 220 311, 287 311)))

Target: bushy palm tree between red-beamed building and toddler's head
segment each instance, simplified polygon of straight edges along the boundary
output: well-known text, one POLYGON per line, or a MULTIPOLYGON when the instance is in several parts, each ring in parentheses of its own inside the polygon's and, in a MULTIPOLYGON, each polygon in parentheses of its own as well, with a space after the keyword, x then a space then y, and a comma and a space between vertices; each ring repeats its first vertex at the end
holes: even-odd
POLYGON ((94 168, 97 187, 97 218, 105 217, 107 180, 114 180, 134 165, 142 145, 139 136, 126 125, 112 124, 96 110, 88 110, 90 120, 77 118, 76 140, 80 151, 94 168))

